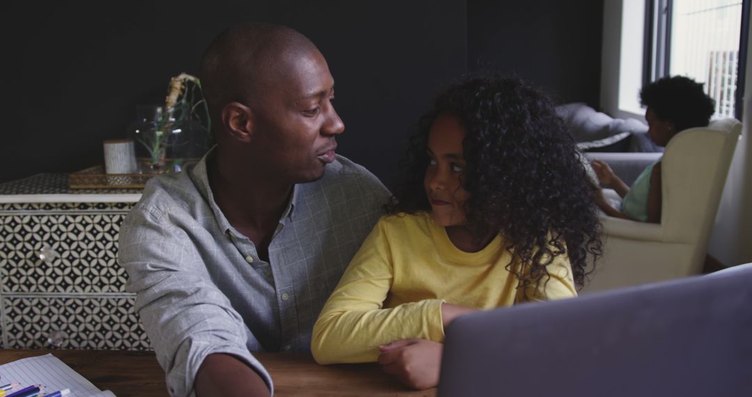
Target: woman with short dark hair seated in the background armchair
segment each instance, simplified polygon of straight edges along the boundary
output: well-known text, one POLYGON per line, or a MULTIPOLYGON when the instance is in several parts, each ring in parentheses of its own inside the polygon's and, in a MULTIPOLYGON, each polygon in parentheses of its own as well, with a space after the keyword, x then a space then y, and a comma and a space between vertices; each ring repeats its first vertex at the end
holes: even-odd
MULTIPOLYGON (((715 102, 705 94, 702 83, 684 76, 663 77, 647 84, 640 90, 640 102, 647 107, 647 135, 661 147, 669 144, 678 132, 707 126, 715 113, 715 102)), ((593 165, 599 182, 614 189, 622 198, 617 209, 605 199, 600 189, 596 191, 596 202, 606 215, 660 223, 663 202, 660 160, 645 168, 631 188, 606 162, 595 159, 590 165, 593 165)))

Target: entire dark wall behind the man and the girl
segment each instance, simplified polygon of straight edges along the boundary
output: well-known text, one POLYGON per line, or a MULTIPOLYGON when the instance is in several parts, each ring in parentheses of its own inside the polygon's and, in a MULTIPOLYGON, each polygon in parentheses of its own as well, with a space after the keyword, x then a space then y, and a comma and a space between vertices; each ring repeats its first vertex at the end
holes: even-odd
POLYGON ((0 182, 102 164, 136 105, 197 74, 227 26, 263 20, 317 44, 347 126, 339 153, 389 184, 408 129, 478 60, 597 106, 602 2, 3 2, 0 182))

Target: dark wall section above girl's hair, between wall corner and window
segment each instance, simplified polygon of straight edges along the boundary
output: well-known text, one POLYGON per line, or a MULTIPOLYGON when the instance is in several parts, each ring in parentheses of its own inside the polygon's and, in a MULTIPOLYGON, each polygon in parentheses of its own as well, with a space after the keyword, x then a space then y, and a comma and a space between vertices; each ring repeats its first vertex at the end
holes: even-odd
POLYGON ((599 106, 603 0, 468 0, 468 68, 532 80, 554 100, 599 106))

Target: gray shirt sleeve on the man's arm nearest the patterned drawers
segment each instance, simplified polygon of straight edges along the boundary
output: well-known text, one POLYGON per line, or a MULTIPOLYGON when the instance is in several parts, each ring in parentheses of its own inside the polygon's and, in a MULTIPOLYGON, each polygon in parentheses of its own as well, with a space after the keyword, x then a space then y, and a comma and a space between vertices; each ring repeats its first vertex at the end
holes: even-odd
MULTIPOLYGON (((232 355, 271 388, 268 373, 247 349, 253 335, 211 282, 186 225, 176 225, 176 218, 137 206, 120 228, 118 254, 129 274, 126 290, 136 293, 135 311, 165 370, 170 394, 191 395, 199 367, 214 353, 232 355)), ((212 380, 216 368, 207 364, 202 379, 212 380)), ((236 382, 252 387, 253 377, 236 382)), ((204 384, 211 382, 196 386, 204 384)))

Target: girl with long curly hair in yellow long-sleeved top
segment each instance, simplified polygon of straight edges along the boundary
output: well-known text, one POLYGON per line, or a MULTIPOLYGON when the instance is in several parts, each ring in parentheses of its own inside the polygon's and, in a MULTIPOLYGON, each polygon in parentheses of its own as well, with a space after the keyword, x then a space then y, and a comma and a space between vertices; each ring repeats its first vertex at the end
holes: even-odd
POLYGON ((441 93, 411 137, 396 205, 314 326, 322 364, 372 362, 435 386, 459 314, 577 295, 601 250, 593 186, 552 103, 521 80, 441 93))

